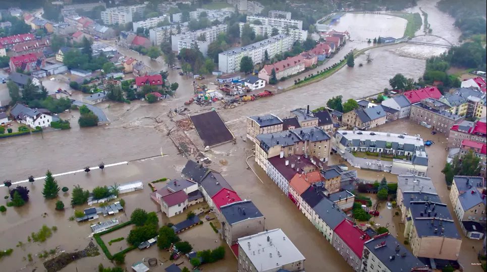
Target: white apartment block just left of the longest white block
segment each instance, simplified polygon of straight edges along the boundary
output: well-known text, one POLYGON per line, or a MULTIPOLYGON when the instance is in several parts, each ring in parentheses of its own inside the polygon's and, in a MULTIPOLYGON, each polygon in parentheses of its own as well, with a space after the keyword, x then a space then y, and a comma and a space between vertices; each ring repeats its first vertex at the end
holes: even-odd
MULTIPOLYGON (((177 51, 179 53, 181 49, 188 48, 188 46, 185 46, 185 42, 187 42, 187 40, 196 40, 201 35, 204 35, 205 41, 204 42, 198 41, 198 46, 203 43, 209 44, 212 41, 216 40, 218 38, 218 35, 222 32, 223 33, 227 32, 227 25, 217 25, 205 29, 173 35, 171 39, 171 48, 173 51, 177 51)), ((150 34, 150 30, 149 30, 149 34, 150 34)), ((203 54, 206 54, 203 51, 201 52, 203 54)))

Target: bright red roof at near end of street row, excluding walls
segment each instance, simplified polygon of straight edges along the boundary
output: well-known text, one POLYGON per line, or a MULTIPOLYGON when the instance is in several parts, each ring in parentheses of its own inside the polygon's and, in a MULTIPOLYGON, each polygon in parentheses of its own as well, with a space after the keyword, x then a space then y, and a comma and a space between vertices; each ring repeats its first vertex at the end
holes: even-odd
POLYGON ((357 226, 354 227, 352 221, 344 219, 335 227, 335 234, 342 238, 359 259, 362 258, 363 244, 370 239, 365 232, 357 226))

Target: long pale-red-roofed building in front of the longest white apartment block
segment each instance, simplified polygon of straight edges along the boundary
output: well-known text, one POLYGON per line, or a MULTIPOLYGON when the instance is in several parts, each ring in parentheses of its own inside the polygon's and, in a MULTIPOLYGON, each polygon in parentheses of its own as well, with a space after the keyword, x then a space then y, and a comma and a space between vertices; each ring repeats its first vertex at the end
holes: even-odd
POLYGON ((273 70, 276 73, 276 79, 291 77, 303 72, 305 69, 305 60, 301 55, 288 57, 273 64, 265 64, 262 70, 259 71, 259 79, 269 82, 272 77, 273 70))

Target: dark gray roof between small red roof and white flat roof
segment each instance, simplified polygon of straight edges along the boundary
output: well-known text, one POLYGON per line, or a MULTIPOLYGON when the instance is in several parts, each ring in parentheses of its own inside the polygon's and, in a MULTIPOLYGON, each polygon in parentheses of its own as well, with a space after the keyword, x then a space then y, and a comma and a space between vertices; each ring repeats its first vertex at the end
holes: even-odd
POLYGON ((220 211, 230 225, 246 219, 263 217, 251 200, 230 203, 220 207, 220 211))

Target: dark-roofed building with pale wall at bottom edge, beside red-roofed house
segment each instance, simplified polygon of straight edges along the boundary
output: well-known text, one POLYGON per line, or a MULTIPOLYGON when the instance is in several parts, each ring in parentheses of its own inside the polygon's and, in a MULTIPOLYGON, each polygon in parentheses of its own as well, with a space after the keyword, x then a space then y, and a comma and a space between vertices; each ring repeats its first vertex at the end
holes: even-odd
POLYGON ((429 268, 387 232, 365 242, 360 271, 429 271, 429 268))

